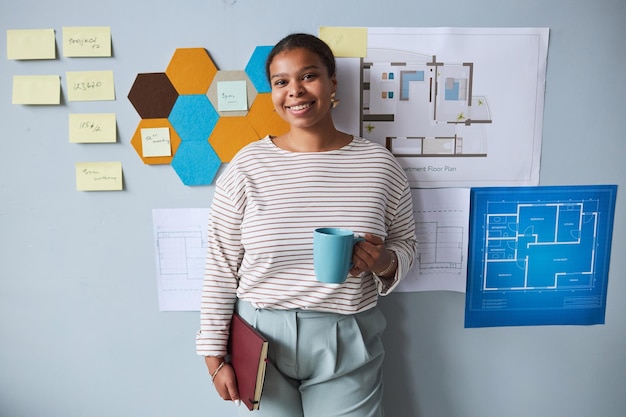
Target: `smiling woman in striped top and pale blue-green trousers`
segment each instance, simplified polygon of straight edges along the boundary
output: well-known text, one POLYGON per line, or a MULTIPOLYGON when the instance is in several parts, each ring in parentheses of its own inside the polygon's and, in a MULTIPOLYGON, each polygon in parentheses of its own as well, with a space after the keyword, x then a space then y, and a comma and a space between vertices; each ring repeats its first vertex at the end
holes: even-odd
POLYGON ((216 183, 197 352, 218 394, 237 401, 223 363, 236 309, 270 342, 255 415, 382 416, 386 323, 376 303, 415 257, 407 178, 387 149, 335 128, 335 59, 323 41, 287 36, 266 72, 290 130, 246 146, 216 183), (318 227, 364 238, 343 284, 315 278, 318 227))

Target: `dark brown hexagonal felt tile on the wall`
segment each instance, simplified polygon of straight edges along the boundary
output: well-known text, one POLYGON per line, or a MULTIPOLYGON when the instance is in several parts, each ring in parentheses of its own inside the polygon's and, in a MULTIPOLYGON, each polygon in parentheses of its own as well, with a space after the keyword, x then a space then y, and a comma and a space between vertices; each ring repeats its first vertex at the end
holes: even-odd
POLYGON ((164 72, 137 74, 128 93, 142 119, 162 119, 169 116, 178 93, 164 72))

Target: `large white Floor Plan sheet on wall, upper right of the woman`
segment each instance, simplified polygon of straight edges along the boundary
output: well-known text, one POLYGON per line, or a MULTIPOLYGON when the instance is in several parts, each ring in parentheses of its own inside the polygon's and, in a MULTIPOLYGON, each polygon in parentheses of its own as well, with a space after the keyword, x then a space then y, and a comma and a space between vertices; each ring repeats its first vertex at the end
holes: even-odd
POLYGON ((537 185, 548 34, 368 28, 367 56, 339 84, 361 80, 361 136, 390 149, 412 187, 537 185))

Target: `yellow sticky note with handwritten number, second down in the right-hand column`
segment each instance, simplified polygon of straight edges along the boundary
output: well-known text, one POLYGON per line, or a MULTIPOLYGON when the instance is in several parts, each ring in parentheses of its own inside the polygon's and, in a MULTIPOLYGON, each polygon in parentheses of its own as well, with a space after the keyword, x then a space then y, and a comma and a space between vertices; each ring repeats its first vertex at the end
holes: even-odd
POLYGON ((115 100, 113 71, 66 72, 68 101, 115 100))

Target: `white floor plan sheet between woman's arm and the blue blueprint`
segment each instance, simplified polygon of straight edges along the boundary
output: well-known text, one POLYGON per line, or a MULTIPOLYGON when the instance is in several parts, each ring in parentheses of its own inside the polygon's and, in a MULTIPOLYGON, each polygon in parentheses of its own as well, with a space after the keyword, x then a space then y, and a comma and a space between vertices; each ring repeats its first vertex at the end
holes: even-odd
POLYGON ((418 253, 395 291, 465 292, 469 194, 469 188, 411 190, 418 253))

